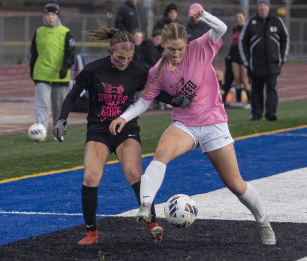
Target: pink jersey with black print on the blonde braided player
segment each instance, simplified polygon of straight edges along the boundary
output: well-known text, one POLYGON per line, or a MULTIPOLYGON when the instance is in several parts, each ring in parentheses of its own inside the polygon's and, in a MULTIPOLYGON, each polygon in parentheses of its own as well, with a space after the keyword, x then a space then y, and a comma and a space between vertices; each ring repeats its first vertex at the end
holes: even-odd
MULTIPOLYGON (((142 97, 145 100, 153 100, 160 90, 165 90, 172 96, 189 96, 192 100, 191 107, 174 107, 171 114, 172 121, 178 121, 185 126, 227 122, 219 84, 212 66, 213 58, 221 45, 221 39, 214 44, 208 33, 190 42, 186 46, 183 60, 175 69, 170 70, 165 60, 157 81, 142 97)), ((159 64, 160 61, 150 70, 146 86, 152 82, 159 64)))

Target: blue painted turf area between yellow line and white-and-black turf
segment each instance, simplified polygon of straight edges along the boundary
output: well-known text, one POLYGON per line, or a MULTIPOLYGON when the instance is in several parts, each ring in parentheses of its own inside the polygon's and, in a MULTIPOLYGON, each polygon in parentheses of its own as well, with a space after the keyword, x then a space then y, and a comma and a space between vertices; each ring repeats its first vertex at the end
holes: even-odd
MULTIPOLYGON (((307 128, 241 138, 235 149, 245 180, 307 167, 307 128)), ((143 158, 144 170, 151 160, 143 158)), ((0 245, 83 224, 82 181, 83 170, 78 170, 0 184, 0 245)), ((209 160, 197 149, 167 166, 155 203, 178 193, 195 195, 222 187, 209 160)), ((134 192, 120 164, 108 164, 99 188, 97 219, 135 208, 134 192)))

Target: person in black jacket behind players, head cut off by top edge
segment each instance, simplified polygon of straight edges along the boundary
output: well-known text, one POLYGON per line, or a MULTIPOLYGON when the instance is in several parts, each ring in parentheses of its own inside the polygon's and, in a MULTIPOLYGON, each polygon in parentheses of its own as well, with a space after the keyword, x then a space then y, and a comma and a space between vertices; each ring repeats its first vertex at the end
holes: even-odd
POLYGON ((138 0, 127 0, 119 6, 115 16, 115 28, 129 33, 132 33, 136 28, 147 32, 145 11, 138 4, 138 0))

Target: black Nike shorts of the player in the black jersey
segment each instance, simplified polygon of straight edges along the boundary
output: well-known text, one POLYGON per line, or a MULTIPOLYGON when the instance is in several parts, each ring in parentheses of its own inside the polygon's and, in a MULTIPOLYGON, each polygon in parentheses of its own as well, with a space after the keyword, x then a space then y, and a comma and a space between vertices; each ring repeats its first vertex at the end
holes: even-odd
POLYGON ((113 135, 110 131, 88 131, 86 133, 86 142, 101 142, 108 147, 110 153, 115 153, 116 148, 128 138, 135 139, 141 144, 140 127, 136 126, 128 129, 124 128, 124 130, 122 130, 120 133, 117 133, 116 135, 113 135))

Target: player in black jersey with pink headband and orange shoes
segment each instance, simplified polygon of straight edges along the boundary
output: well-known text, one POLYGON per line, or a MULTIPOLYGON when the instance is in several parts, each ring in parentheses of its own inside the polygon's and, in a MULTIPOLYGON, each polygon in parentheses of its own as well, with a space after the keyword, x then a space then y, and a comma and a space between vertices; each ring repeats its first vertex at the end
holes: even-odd
MULTIPOLYGON (((66 132, 66 119, 73 103, 83 89, 88 90, 89 113, 82 185, 82 209, 87 233, 86 237, 78 242, 79 245, 98 243, 97 191, 103 168, 112 152, 116 154, 125 177, 132 186, 139 205, 141 204, 142 161, 140 127, 137 118, 126 124, 121 133, 115 136, 109 132, 109 124, 134 102, 135 93, 145 87, 147 72, 132 61, 134 40, 129 33, 114 28, 107 29, 102 24, 100 27, 100 31, 88 31, 87 35, 96 40, 110 39, 108 48, 110 56, 87 64, 79 73, 62 104, 59 120, 53 129, 54 136, 61 142, 61 137, 66 132)), ((157 99, 182 108, 190 101, 184 95, 172 97, 166 92, 159 94, 157 99)), ((157 242, 162 239, 164 229, 156 222, 154 206, 152 214, 147 230, 153 237, 153 241, 157 242)))

